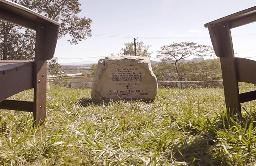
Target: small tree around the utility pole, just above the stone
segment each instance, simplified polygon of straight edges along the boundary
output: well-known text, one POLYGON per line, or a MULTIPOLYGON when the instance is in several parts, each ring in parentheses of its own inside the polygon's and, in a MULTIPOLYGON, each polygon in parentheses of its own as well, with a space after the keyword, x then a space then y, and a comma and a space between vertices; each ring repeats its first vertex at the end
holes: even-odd
MULTIPOLYGON (((128 43, 124 43, 125 48, 122 48, 120 50, 119 55, 134 55, 133 51, 134 51, 134 43, 133 42, 128 42, 128 43)), ((144 42, 137 42, 136 43, 136 53, 137 56, 147 56, 150 57, 150 55, 152 54, 152 52, 149 52, 148 49, 151 45, 144 45, 144 42)))

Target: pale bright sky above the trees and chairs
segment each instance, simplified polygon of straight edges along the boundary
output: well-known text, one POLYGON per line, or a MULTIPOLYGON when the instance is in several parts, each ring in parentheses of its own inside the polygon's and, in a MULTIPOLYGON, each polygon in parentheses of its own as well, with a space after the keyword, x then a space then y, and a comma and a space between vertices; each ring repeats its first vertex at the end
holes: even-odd
MULTIPOLYGON (((151 45, 152 60, 161 45, 196 42, 211 45, 204 24, 256 6, 255 0, 80 0, 79 17, 92 19, 92 37, 76 45, 58 40, 55 57, 60 64, 96 63, 118 54, 125 42, 151 45)), ((235 57, 256 56, 256 23, 231 29, 235 57)), ((217 58, 215 55, 212 58, 217 58)), ((249 58, 256 60, 256 58, 249 58)))

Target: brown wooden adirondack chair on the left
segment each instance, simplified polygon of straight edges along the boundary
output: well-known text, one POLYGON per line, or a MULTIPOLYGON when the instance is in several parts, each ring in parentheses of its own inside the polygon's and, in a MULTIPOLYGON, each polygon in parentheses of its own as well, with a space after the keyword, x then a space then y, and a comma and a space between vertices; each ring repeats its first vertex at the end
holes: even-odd
POLYGON ((35 124, 46 117, 47 60, 53 57, 60 24, 8 0, 0 0, 0 19, 36 31, 34 61, 0 60, 0 109, 34 113, 35 124), (34 88, 34 101, 7 100, 34 88))

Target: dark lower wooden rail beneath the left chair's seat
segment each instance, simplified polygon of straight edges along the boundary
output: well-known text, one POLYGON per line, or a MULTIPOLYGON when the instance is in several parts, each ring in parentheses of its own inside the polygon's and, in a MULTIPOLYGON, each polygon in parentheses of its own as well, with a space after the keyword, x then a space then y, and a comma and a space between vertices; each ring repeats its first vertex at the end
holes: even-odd
POLYGON ((0 109, 33 112, 33 101, 4 100, 0 103, 0 109))

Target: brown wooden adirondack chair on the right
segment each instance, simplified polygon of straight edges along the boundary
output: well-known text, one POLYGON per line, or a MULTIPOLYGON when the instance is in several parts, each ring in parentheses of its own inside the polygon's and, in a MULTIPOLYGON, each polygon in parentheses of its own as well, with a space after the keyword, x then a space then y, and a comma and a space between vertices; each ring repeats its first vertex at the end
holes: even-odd
POLYGON ((241 117, 240 103, 256 99, 256 90, 239 93, 238 81, 256 83, 256 61, 235 58, 230 29, 256 21, 256 6, 204 25, 208 28, 217 57, 220 58, 226 108, 241 117))

